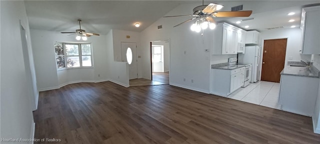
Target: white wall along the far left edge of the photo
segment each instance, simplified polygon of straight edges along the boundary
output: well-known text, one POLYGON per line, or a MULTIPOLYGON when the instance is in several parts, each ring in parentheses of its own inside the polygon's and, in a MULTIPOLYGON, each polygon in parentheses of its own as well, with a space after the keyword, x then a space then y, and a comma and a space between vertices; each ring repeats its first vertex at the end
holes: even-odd
MULTIPOLYGON (((26 75, 24 67, 19 20, 25 29, 29 54, 32 53, 24 2, 1 0, 0 13, 1 138, 31 138, 34 133, 34 122, 33 104, 29 100, 34 98, 34 95, 26 91, 36 89, 36 83, 33 81, 35 77, 32 77, 31 81, 26 78, 34 74, 33 60, 31 58, 29 60, 31 75, 26 75), (33 89, 27 89, 28 84, 31 84, 33 89)), ((32 57, 31 54, 28 56, 32 57)))

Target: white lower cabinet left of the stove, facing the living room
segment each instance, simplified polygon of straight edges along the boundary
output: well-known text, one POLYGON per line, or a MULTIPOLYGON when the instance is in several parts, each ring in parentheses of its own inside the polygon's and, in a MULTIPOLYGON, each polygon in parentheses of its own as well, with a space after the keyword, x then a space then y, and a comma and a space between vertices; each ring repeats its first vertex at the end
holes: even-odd
POLYGON ((244 67, 236 69, 211 69, 210 92, 227 96, 243 85, 244 67))

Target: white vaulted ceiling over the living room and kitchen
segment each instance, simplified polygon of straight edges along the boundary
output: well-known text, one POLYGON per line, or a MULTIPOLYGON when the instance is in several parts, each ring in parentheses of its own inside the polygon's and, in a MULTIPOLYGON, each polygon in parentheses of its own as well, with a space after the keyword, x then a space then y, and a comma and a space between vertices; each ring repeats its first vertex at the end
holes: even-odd
MULTIPOLYGON (((223 11, 230 10, 231 6, 243 4, 243 10, 253 10, 250 17, 216 18, 216 21, 226 21, 247 30, 262 31, 266 28, 279 26, 296 25, 298 27, 301 8, 306 4, 320 3, 318 0, 295 1, 297 2, 205 0, 205 3, 223 4, 225 6, 221 9, 223 11), (279 4, 273 4, 276 2, 279 4), (273 6, 270 6, 272 4, 273 6), (288 16, 287 13, 291 11, 296 13, 288 16), (235 23, 238 20, 251 17, 254 19, 242 21, 239 24, 235 23), (288 22, 289 19, 295 21, 288 22), (249 25, 249 27, 244 28, 245 25, 249 25)), ((194 6, 201 5, 200 0, 26 0, 25 8, 29 26, 32 29, 72 32, 78 29, 77 19, 81 19, 81 28, 87 32, 106 34, 110 29, 140 32, 182 3, 194 3, 194 6), (137 22, 140 23, 140 27, 134 27, 134 23, 137 22)), ((190 11, 191 14, 192 8, 188 8, 187 11, 190 11)), ((181 14, 189 13, 182 12, 181 14)))

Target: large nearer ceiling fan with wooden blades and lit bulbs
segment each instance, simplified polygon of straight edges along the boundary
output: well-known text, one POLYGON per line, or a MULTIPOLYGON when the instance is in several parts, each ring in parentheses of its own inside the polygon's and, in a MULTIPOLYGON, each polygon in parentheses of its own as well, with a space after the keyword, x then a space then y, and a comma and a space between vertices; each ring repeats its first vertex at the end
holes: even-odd
POLYGON ((242 10, 242 11, 217 11, 220 10, 223 5, 210 3, 208 5, 204 5, 204 0, 202 0, 202 5, 196 6, 193 8, 193 14, 187 15, 173 15, 173 16, 163 16, 163 17, 176 17, 176 16, 195 16, 193 18, 187 19, 173 27, 179 26, 185 22, 191 21, 193 19, 197 19, 192 25, 191 30, 200 32, 201 29, 206 29, 209 27, 210 29, 215 28, 215 21, 213 17, 248 17, 251 15, 252 10, 242 10))

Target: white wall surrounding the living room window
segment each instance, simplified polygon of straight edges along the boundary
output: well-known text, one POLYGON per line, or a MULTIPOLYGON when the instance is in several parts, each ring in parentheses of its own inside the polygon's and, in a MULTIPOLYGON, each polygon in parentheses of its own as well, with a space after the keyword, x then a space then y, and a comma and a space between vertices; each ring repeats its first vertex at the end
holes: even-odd
POLYGON ((75 40, 57 31, 31 29, 38 89, 54 89, 74 82, 98 82, 108 80, 108 64, 105 35, 90 36, 87 41, 75 40), (54 42, 89 42, 92 45, 94 68, 56 70, 54 42))

